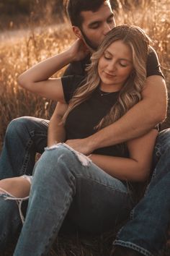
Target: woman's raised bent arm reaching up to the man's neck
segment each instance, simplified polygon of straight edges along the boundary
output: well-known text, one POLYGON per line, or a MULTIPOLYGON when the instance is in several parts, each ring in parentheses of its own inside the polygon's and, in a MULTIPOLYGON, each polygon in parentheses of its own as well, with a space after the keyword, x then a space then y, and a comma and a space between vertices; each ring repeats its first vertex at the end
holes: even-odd
POLYGON ((78 39, 67 51, 46 59, 45 61, 41 61, 19 75, 19 85, 42 97, 65 102, 61 78, 50 77, 71 61, 79 61, 79 59, 84 58, 86 54, 87 51, 84 45, 81 40, 78 39))

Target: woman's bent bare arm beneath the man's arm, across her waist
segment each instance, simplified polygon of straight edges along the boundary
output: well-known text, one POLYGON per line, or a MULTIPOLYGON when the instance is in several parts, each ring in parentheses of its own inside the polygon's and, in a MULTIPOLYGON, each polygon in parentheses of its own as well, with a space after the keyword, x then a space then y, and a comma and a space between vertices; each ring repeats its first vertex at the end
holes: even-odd
POLYGON ((91 160, 117 179, 132 182, 145 181, 151 171, 153 147, 158 131, 152 129, 146 135, 129 141, 130 158, 91 154, 91 160))

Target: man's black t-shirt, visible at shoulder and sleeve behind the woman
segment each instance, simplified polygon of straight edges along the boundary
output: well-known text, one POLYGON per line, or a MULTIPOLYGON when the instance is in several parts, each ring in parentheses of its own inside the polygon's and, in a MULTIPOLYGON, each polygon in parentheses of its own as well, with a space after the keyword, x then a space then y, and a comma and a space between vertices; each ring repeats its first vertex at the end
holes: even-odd
MULTIPOLYGON (((63 76, 78 74, 85 76, 86 75, 86 65, 90 64, 90 55, 86 56, 82 61, 75 61, 68 65, 68 68, 64 72, 63 76)), ((160 64, 158 61, 158 56, 156 51, 151 48, 151 51, 148 54, 148 61, 146 67, 147 77, 157 74, 164 77, 164 74, 161 72, 160 64)))

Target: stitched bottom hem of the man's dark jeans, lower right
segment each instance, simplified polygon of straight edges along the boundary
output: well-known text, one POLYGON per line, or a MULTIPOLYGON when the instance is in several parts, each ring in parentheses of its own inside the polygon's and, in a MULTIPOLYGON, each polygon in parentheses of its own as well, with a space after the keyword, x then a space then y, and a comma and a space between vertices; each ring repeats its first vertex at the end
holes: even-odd
POLYGON ((140 246, 138 246, 138 245, 136 245, 136 244, 134 244, 132 242, 125 242, 125 241, 116 239, 113 242, 113 245, 120 245, 120 246, 123 246, 123 247, 128 247, 130 249, 134 249, 135 251, 142 253, 143 255, 153 256, 151 254, 151 252, 149 252, 147 249, 144 249, 143 247, 140 247, 140 246))

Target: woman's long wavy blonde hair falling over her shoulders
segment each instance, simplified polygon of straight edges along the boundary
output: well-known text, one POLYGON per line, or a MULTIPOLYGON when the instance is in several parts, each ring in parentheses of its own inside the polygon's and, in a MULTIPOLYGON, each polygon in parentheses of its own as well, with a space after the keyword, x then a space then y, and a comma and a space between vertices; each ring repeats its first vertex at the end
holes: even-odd
POLYGON ((97 130, 107 127, 109 124, 117 121, 117 119, 120 119, 121 116, 141 100, 141 92, 146 82, 146 63, 150 49, 150 38, 140 27, 119 25, 109 31, 99 46, 98 51, 91 56, 91 64, 86 68, 87 77, 84 80, 84 85, 79 87, 75 91, 73 98, 71 98, 66 114, 63 116, 63 123, 73 108, 89 99, 94 90, 99 87, 101 81, 98 73, 99 59, 110 44, 117 40, 121 40, 130 47, 133 55, 133 72, 131 72, 122 86, 117 102, 112 106, 109 113, 99 121, 97 130))

